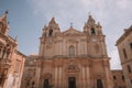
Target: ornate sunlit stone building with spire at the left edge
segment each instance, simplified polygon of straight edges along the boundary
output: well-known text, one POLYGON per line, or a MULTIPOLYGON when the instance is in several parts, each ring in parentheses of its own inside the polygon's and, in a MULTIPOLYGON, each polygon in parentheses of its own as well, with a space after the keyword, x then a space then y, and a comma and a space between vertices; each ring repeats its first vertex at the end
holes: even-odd
POLYGON ((20 88, 25 55, 9 36, 8 11, 0 18, 0 88, 20 88))

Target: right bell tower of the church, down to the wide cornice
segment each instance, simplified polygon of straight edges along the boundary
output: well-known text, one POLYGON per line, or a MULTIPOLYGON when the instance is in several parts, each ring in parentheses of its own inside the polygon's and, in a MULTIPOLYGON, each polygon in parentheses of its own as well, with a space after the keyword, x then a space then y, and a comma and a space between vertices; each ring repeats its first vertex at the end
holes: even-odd
POLYGON ((107 57, 106 42, 100 23, 96 23, 95 19, 89 15, 88 21, 85 23, 84 33, 87 35, 88 41, 88 55, 90 57, 107 57))

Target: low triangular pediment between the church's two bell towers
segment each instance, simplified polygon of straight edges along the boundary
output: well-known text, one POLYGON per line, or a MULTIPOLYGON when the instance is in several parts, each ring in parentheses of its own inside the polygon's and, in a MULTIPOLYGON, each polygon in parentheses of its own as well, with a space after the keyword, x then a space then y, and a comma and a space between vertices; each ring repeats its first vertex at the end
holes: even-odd
POLYGON ((84 34, 84 33, 80 32, 80 31, 77 31, 77 30, 75 30, 75 29, 73 29, 73 28, 70 28, 70 29, 64 31, 63 34, 64 34, 64 35, 81 35, 81 34, 84 34))

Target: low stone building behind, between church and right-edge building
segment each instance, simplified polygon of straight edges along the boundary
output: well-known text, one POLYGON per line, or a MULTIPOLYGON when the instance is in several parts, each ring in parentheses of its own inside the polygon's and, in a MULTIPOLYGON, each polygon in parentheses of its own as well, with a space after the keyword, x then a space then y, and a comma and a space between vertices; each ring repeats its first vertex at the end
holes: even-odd
POLYGON ((122 69, 114 69, 111 72, 112 72, 114 88, 127 88, 122 69))

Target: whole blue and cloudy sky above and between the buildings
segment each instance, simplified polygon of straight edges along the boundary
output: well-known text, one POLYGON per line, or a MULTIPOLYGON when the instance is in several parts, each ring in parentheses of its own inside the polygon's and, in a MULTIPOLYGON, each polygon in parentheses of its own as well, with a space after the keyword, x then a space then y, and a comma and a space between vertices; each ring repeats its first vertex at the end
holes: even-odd
POLYGON ((111 68, 121 69, 116 41, 132 25, 132 0, 0 0, 0 16, 9 10, 9 34, 18 36, 18 50, 38 53, 42 29, 55 16, 62 31, 82 31, 89 13, 102 25, 111 68))

